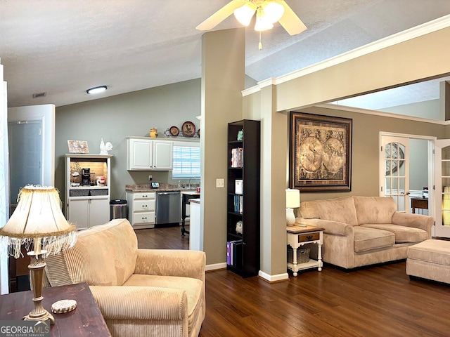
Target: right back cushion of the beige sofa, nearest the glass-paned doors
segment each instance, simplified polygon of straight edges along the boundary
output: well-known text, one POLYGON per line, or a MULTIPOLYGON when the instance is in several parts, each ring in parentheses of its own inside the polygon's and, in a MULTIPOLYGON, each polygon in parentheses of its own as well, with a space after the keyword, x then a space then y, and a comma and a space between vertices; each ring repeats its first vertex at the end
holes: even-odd
POLYGON ((366 223, 392 223, 397 211, 394 199, 386 197, 353 197, 358 225, 366 223))

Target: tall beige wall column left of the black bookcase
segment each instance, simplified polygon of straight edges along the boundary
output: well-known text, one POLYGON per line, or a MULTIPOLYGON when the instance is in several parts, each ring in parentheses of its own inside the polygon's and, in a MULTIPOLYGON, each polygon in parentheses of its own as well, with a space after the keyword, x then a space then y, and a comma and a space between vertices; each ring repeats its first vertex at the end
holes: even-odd
POLYGON ((226 262, 227 124, 242 119, 245 29, 207 32, 202 37, 202 189, 200 223, 208 265, 226 262))

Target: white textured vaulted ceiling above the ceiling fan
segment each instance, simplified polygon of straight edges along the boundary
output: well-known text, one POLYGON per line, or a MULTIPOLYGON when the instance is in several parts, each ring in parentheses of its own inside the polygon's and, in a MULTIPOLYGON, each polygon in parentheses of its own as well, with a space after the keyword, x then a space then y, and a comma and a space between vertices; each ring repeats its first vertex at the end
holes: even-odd
MULTIPOLYGON (((276 23, 262 32, 259 51, 259 34, 247 28, 245 73, 256 81, 450 14, 449 0, 285 1, 308 29, 291 37, 276 23)), ((1 0, 0 58, 8 106, 68 105, 199 78, 203 32, 195 27, 227 3, 1 0), (99 85, 107 85, 108 91, 86 94, 99 85), (44 92, 44 97, 32 98, 44 92)), ((239 23, 231 15, 214 29, 233 27, 239 23)), ((417 91, 402 98, 426 100, 424 91, 420 98, 417 91)))

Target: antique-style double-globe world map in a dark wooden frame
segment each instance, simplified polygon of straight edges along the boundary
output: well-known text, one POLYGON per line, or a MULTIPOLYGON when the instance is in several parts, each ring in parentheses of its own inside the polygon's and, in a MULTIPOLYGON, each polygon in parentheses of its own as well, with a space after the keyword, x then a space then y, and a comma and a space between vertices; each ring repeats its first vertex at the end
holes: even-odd
POLYGON ((350 191, 352 119, 290 113, 290 188, 350 191))

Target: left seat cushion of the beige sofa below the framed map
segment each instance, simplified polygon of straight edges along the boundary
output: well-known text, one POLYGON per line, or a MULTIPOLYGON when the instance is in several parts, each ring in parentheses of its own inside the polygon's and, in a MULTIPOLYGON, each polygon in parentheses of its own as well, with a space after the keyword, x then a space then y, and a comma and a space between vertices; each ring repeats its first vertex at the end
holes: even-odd
POLYGON ((395 244, 395 235, 387 230, 356 226, 354 230, 354 251, 361 253, 371 249, 382 249, 395 244))

